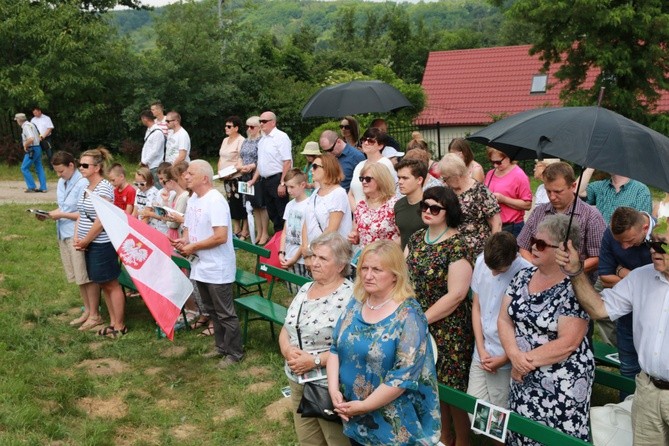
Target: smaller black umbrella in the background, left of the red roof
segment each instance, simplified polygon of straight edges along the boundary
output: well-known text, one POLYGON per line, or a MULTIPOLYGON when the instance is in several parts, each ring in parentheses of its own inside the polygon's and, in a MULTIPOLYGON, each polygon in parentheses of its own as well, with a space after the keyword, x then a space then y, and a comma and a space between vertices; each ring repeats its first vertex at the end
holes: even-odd
POLYGON ((382 81, 353 81, 318 90, 302 108, 302 117, 341 118, 403 107, 411 107, 411 102, 392 85, 382 81))

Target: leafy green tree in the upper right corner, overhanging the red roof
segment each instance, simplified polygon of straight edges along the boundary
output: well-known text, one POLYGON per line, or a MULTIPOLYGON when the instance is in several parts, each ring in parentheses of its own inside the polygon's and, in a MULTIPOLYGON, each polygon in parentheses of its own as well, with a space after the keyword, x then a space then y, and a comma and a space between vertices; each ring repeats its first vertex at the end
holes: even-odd
POLYGON ((566 81, 568 104, 593 104, 606 87, 603 105, 648 122, 659 92, 669 89, 665 0, 517 0, 508 14, 531 29, 531 53, 540 55, 545 68, 564 60, 556 76, 566 81), (601 71, 585 88, 593 69, 601 71))

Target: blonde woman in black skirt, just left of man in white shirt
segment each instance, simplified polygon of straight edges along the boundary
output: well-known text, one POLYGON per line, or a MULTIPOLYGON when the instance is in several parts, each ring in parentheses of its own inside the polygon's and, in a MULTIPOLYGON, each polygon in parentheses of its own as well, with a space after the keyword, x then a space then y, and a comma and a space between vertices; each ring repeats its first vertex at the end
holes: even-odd
MULTIPOLYGON (((253 173, 258 164, 258 141, 261 137, 260 132, 260 117, 251 116, 246 120, 246 139, 242 143, 239 150, 239 161, 237 162, 237 170, 242 173, 239 177, 242 181, 247 181, 248 186, 253 186, 253 173)), ((253 218, 256 226, 256 243, 264 245, 269 241, 269 214, 262 202, 262 194, 260 188, 255 188, 254 195, 244 195, 244 206, 250 202, 253 208, 253 218)))

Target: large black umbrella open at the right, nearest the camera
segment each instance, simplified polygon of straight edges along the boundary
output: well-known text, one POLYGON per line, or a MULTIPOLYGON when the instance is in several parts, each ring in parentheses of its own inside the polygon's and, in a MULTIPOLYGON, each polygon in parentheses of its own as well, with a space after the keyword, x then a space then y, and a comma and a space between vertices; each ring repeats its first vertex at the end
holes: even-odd
POLYGON ((562 158, 669 191, 669 138, 602 107, 529 110, 467 139, 513 160, 562 158))

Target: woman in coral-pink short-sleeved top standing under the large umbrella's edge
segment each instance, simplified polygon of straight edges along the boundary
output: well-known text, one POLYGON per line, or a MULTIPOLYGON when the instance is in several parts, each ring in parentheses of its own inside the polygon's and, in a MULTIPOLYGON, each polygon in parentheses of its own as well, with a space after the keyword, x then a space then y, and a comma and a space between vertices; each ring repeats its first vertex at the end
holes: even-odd
POLYGON ((485 185, 497 198, 501 209, 502 230, 518 237, 525 225, 525 211, 532 207, 530 179, 506 153, 488 147, 493 169, 485 177, 485 185))

